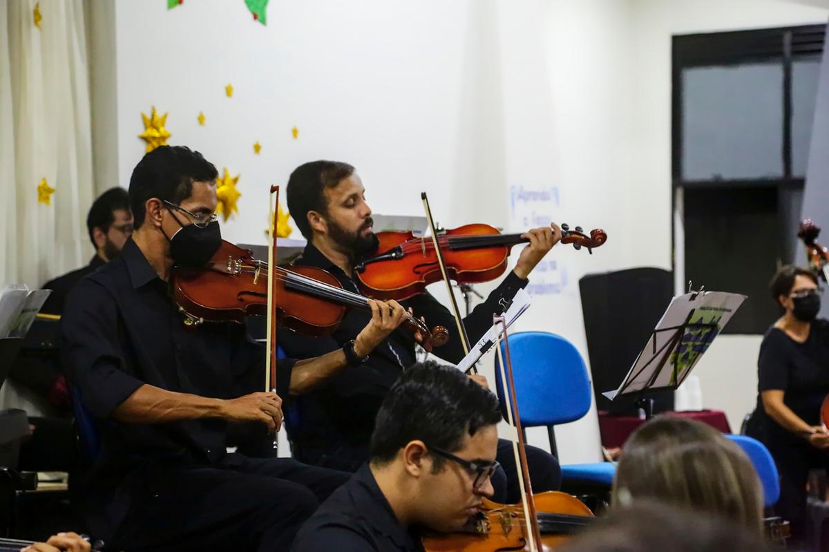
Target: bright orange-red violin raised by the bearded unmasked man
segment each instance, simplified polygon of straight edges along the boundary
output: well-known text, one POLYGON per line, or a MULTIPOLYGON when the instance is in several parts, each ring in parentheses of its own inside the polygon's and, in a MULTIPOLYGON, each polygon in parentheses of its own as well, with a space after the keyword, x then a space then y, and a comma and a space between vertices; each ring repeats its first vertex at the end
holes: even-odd
MULTIPOLYGON (((604 230, 585 235, 580 226, 561 225, 561 243, 575 249, 593 249, 608 240, 604 230)), ((378 254, 355 267, 361 292, 381 300, 408 299, 424 293, 426 286, 442 279, 439 260, 430 238, 415 238, 411 232, 378 232, 378 254)), ((502 234, 494 226, 464 225, 439 235, 448 278, 457 283, 489 282, 507 269, 513 245, 527 243, 521 234, 502 234)))

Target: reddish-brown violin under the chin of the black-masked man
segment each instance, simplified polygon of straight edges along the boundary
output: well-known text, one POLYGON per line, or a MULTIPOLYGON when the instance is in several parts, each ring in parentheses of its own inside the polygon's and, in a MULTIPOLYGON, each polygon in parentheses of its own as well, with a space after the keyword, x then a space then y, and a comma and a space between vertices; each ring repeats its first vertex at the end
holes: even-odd
MULTIPOLYGON (((245 316, 268 313, 268 263, 254 259, 250 249, 223 241, 204 268, 174 267, 172 294, 185 314, 185 324, 243 322, 245 316)), ((368 300, 342 288, 333 274, 313 267, 276 267, 274 271, 276 322, 313 337, 334 331, 346 308, 371 310, 368 300)), ((403 322, 422 339, 427 351, 448 340, 437 326, 429 330, 410 314, 403 322)))

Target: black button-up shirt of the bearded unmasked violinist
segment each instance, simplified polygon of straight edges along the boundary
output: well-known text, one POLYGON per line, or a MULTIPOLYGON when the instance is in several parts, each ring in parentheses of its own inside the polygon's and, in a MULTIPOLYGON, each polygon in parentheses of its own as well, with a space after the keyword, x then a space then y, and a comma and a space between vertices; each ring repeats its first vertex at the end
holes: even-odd
MULTIPOLYGON (((305 247, 302 257, 295 264, 327 270, 337 277, 343 288, 359 293, 356 282, 311 244, 305 247)), ((473 344, 492 327, 492 314, 503 311, 502 299, 511 300, 526 284, 526 280, 510 271, 487 300, 463 319, 473 344)), ((425 317, 428 327, 447 328, 449 340, 444 346, 434 347, 434 355, 453 363, 463 359, 463 344, 448 308, 430 293, 415 295, 401 304, 412 307, 414 316, 425 317)), ((370 320, 371 312, 349 309, 330 336, 306 337, 284 330, 279 332, 279 344, 291 358, 319 356, 336 351, 354 339, 370 320)), ((292 441, 298 445, 299 459, 350 470, 365 462, 380 404, 400 373, 415 361, 414 337, 405 329, 397 329, 371 351, 360 366, 341 370, 315 390, 295 399, 292 406, 295 415, 288 415, 286 428, 292 441), (292 419, 295 420, 293 424, 292 419), (337 452, 341 446, 351 450, 361 449, 362 452, 356 455, 357 458, 346 458, 345 453, 337 452), (329 463, 321 462, 319 458, 320 455, 332 456, 335 453, 337 458, 332 458, 329 463)))

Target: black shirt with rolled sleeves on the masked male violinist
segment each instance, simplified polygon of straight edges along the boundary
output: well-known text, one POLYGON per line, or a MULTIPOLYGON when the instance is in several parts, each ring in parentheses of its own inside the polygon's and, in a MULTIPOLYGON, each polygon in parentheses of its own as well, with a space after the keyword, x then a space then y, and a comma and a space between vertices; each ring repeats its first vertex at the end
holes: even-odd
MULTIPOLYGON (((212 465, 225 456, 220 419, 121 424, 109 417, 143 384, 221 399, 250 391, 264 348, 231 322, 186 328, 169 293, 138 245, 83 278, 61 317, 61 356, 70 384, 95 416, 100 452, 85 489, 88 515, 104 527, 124 516, 148 477, 167 463, 212 465)), ((292 361, 277 369, 287 389, 292 361)), ((93 527, 95 529, 95 527, 93 527)))

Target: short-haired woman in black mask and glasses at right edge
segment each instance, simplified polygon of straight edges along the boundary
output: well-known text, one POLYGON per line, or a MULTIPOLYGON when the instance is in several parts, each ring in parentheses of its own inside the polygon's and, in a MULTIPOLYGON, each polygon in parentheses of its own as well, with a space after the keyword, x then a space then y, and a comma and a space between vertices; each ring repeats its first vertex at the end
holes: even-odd
POLYGON ((829 467, 829 433, 820 409, 829 394, 829 320, 817 318, 822 289, 807 269, 786 265, 770 284, 783 316, 760 345, 759 395, 747 433, 763 441, 780 472, 775 511, 802 542, 806 482, 815 467, 829 467))

